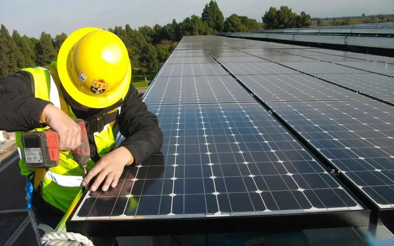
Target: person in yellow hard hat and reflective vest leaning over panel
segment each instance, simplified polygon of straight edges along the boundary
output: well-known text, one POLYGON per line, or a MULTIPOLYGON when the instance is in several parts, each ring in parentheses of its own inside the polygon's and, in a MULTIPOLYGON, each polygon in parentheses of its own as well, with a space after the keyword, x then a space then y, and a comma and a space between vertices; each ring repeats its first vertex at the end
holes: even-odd
POLYGON ((81 143, 76 118, 85 121, 89 136, 91 159, 82 185, 91 183, 91 191, 116 187, 125 167, 163 145, 157 116, 131 84, 128 50, 112 32, 78 29, 66 38, 56 62, 0 79, 0 130, 16 132, 21 174, 34 185, 34 214, 51 228, 80 191, 82 168, 69 152, 81 143), (21 134, 49 127, 59 134, 59 165, 30 170, 22 158, 21 134), (125 140, 114 148, 120 134, 125 140))

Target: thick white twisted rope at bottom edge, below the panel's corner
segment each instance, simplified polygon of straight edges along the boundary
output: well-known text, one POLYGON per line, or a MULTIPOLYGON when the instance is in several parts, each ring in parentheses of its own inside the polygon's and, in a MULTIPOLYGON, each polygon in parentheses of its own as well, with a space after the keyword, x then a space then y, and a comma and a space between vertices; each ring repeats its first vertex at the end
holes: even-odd
POLYGON ((48 232, 41 238, 41 246, 94 246, 87 237, 73 232, 48 232))

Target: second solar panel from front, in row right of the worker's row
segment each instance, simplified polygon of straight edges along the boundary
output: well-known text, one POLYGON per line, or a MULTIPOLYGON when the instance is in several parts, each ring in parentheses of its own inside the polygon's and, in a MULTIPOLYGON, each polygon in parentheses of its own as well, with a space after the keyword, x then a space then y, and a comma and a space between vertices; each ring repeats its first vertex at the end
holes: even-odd
POLYGON ((237 77, 265 102, 368 99, 356 92, 305 74, 238 75, 237 77))

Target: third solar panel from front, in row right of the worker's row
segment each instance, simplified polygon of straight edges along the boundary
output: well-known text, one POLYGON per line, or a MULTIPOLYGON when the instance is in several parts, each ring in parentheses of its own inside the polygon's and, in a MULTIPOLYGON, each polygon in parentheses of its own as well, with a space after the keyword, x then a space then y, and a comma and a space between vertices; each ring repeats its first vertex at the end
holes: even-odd
POLYGON ((273 62, 243 62, 223 64, 234 75, 299 74, 299 72, 273 62))

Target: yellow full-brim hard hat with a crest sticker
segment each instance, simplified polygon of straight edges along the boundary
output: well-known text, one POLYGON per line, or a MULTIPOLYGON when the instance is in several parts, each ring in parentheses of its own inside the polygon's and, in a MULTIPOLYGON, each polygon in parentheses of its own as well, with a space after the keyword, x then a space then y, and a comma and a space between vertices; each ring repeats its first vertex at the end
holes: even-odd
POLYGON ((110 31, 81 28, 72 32, 57 60, 66 92, 86 107, 111 106, 129 91, 129 54, 122 40, 110 31))

